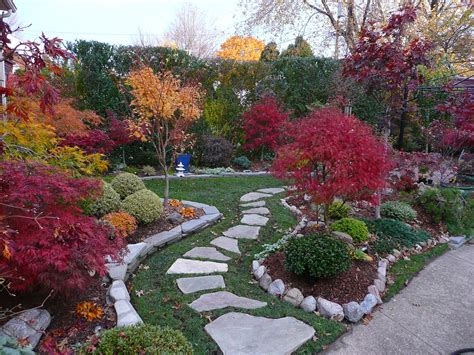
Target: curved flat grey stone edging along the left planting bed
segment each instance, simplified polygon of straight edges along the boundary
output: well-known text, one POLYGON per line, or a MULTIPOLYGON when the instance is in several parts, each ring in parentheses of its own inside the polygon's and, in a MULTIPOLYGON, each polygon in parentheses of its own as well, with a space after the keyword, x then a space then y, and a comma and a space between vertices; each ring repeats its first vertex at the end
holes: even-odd
POLYGON ((128 277, 138 268, 140 263, 149 255, 153 254, 158 248, 177 242, 185 236, 201 231, 219 221, 222 213, 211 205, 206 205, 194 201, 181 201, 186 206, 200 208, 204 215, 189 221, 181 223, 179 226, 169 230, 157 233, 146 238, 143 242, 129 244, 129 252, 124 257, 124 263, 106 264, 107 275, 112 281, 107 291, 107 298, 114 304, 117 313, 117 326, 131 326, 143 323, 140 315, 130 303, 130 294, 125 285, 128 277))

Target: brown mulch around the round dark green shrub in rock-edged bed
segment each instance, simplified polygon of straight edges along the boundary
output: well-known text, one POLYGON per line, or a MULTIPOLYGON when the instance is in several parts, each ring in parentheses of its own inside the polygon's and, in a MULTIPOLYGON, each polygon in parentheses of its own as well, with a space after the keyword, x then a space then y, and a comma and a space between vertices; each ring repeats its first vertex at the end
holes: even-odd
POLYGON ((354 260, 348 271, 331 279, 295 275, 285 270, 284 261, 283 252, 274 253, 264 261, 268 274, 274 280, 281 279, 285 285, 300 289, 305 296, 323 297, 339 304, 361 302, 367 294, 367 287, 377 278, 375 261, 354 260))

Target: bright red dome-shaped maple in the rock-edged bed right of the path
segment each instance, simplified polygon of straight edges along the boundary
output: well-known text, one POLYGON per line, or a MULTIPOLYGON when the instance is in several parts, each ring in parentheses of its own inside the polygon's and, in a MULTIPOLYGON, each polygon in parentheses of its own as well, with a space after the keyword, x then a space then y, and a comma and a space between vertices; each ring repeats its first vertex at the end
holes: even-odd
POLYGON ((390 164, 384 145, 356 117, 321 109, 292 122, 285 133, 290 143, 277 150, 272 172, 324 205, 325 221, 336 197, 372 201, 385 185, 390 164))

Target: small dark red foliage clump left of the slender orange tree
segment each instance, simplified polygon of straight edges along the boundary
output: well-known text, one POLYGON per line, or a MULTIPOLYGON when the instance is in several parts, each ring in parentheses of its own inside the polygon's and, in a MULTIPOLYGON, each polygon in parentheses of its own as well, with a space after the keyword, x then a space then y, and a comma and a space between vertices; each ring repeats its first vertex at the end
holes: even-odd
POLYGON ((61 145, 76 146, 86 153, 110 153, 115 148, 115 142, 104 131, 91 129, 85 132, 69 133, 61 145))

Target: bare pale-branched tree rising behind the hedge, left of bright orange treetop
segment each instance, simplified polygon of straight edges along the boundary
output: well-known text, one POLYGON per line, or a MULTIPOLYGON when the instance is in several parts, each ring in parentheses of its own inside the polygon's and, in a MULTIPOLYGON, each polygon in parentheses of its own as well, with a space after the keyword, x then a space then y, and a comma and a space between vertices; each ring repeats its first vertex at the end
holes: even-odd
POLYGON ((184 3, 165 34, 165 40, 198 58, 215 52, 217 32, 211 28, 206 13, 191 3, 184 3))

